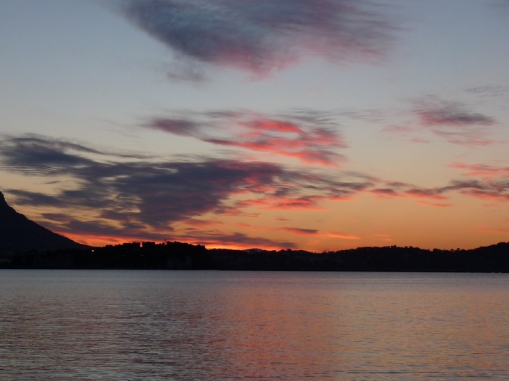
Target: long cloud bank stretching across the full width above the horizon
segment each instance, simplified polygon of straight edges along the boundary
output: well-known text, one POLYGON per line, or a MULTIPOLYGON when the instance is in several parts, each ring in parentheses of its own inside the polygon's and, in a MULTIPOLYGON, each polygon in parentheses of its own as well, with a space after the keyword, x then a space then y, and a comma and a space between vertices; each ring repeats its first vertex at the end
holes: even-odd
MULTIPOLYGON (((455 163, 455 168, 466 171, 466 180, 425 188, 362 173, 295 171, 270 162, 213 157, 163 160, 102 152, 40 135, 0 141, 0 163, 6 171, 44 176, 48 182, 54 182, 54 191, 2 190, 14 196, 17 205, 46 208, 42 217, 47 226, 71 237, 294 247, 292 242, 224 231, 221 219, 237 216, 256 219, 266 210, 324 210, 328 202, 349 201, 359 194, 407 199, 441 208, 454 206, 453 194, 509 202, 507 168, 480 164, 455 163), (51 212, 51 208, 59 211, 51 212)), ((280 230, 291 235, 359 239, 356 235, 291 225, 280 230)))

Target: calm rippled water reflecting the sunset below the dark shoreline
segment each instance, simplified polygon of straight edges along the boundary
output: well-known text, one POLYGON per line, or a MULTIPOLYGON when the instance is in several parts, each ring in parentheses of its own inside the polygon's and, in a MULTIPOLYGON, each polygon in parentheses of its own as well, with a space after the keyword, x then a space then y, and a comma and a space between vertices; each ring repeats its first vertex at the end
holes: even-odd
POLYGON ((0 270, 1 380, 507 380, 509 274, 0 270))

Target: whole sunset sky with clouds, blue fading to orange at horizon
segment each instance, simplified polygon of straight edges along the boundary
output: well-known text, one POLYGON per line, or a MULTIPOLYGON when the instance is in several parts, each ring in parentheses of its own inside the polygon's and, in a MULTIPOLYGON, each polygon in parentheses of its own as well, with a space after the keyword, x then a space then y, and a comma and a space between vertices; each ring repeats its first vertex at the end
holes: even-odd
POLYGON ((509 240, 507 0, 0 1, 0 191, 86 244, 509 240))

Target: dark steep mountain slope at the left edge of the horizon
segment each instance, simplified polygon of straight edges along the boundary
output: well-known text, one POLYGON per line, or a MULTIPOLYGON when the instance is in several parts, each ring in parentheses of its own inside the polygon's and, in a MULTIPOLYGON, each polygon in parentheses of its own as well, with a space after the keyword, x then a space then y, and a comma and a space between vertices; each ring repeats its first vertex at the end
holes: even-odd
POLYGON ((84 244, 53 233, 16 212, 0 192, 0 254, 84 247, 84 244))

